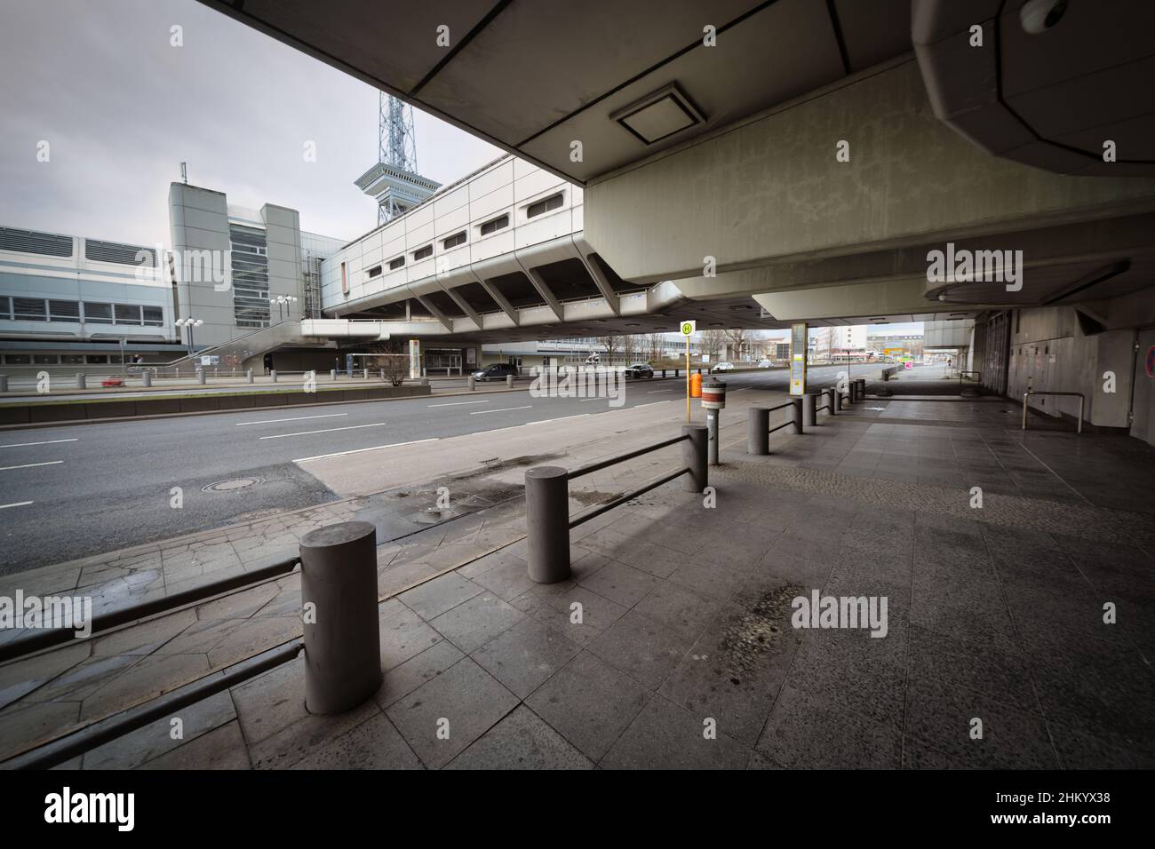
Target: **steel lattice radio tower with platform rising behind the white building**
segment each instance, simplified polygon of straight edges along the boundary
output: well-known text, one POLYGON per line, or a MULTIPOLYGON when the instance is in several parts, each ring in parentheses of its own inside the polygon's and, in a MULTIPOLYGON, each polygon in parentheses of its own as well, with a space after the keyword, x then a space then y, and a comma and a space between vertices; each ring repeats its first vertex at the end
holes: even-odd
POLYGON ((433 194, 440 184, 417 173, 413 107, 396 97, 378 94, 377 164, 357 180, 357 187, 377 199, 377 223, 401 215, 433 194))

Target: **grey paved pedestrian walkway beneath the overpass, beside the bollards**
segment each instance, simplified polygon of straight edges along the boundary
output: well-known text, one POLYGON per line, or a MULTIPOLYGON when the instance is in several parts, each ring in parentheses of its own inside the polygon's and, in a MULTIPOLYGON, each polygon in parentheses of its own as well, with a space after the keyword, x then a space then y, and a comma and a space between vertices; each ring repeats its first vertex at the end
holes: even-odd
MULTIPOLYGON (((187 708, 180 740, 158 721, 72 766, 1155 766, 1155 452, 1022 432, 999 400, 867 400, 755 457, 742 407, 770 394, 739 397, 715 506, 673 482, 579 526, 568 581, 527 578, 519 499, 385 546, 362 707, 308 715, 298 658, 187 708), (885 598, 885 636, 795 627, 814 591, 885 598)), ((582 478, 571 507, 676 460, 582 478)), ((342 504, 269 533, 368 509, 342 504)), ((296 581, 0 666, 6 755, 295 639, 296 581)))

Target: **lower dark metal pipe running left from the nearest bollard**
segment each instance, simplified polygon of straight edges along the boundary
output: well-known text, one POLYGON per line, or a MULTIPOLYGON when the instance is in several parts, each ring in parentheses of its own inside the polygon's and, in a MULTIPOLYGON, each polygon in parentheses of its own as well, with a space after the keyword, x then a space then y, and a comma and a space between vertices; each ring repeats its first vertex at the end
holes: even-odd
POLYGON ((18 754, 5 761, 5 766, 15 769, 50 769, 79 754, 90 752, 97 746, 103 746, 126 733, 131 733, 151 722, 171 716, 182 707, 195 705, 224 690, 229 690, 238 684, 243 684, 251 678, 255 678, 262 672, 280 666, 297 657, 305 648, 303 640, 297 640, 288 646, 270 649, 263 656, 251 657, 232 666, 226 668, 223 675, 213 675, 207 678, 162 695, 147 705, 131 708, 124 714, 110 716, 106 720, 96 722, 85 728, 77 729, 72 733, 59 737, 51 743, 33 749, 24 754, 18 754))

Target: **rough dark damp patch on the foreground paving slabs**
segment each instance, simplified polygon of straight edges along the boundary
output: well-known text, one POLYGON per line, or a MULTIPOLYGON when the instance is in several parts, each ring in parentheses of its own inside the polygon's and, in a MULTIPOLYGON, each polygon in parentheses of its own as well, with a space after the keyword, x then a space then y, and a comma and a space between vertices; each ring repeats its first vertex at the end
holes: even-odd
POLYGON ((787 647, 793 630, 790 602, 805 594, 806 588, 800 584, 785 584, 736 598, 742 612, 723 623, 717 658, 731 684, 742 684, 767 655, 787 647))

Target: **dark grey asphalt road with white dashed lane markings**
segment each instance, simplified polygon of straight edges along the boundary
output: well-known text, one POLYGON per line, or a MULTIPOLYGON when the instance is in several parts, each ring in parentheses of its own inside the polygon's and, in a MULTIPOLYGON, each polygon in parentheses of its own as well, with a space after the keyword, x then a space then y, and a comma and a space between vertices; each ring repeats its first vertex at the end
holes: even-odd
MULTIPOLYGON (((844 366, 811 370, 810 386, 844 366)), ((854 377, 879 377, 856 366, 854 377)), ((785 389, 788 373, 726 374, 730 392, 785 389)), ((681 401, 683 380, 629 381, 625 407, 681 401)), ((498 431, 610 409, 605 399, 520 392, 40 427, 0 434, 0 574, 336 499, 311 459, 498 431), (204 487, 238 478, 236 491, 204 487), (170 506, 181 490, 181 509, 170 506)), ((495 445, 508 439, 494 434, 495 445)))

